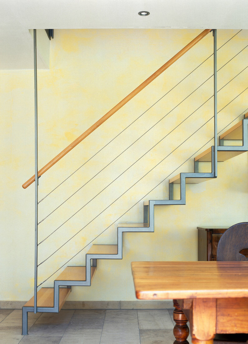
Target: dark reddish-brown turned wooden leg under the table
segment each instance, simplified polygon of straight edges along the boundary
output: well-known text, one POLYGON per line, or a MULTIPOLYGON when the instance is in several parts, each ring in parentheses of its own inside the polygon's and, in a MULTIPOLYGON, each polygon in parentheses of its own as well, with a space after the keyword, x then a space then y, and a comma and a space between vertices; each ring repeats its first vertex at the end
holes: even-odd
POLYGON ((173 304, 175 307, 173 312, 173 319, 176 323, 173 329, 173 334, 176 338, 174 344, 189 344, 189 342, 187 341, 189 335, 189 327, 187 325, 188 319, 177 303, 177 300, 173 300, 173 304))

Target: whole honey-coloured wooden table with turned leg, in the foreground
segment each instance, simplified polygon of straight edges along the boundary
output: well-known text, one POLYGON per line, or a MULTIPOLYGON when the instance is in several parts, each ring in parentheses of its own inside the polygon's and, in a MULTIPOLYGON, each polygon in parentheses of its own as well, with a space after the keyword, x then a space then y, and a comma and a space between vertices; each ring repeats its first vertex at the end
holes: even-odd
POLYGON ((175 344, 248 333, 248 261, 132 262, 136 297, 174 299, 175 344))

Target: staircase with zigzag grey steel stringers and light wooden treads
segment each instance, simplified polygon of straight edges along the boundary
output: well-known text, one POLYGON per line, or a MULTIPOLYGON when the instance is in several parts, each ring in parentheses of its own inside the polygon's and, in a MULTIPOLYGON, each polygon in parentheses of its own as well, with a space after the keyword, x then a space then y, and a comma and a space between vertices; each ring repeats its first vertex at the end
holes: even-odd
MULTIPOLYGON (((244 119, 219 137, 217 161, 222 162, 248 151, 248 112, 244 119), (225 146, 229 140, 240 140, 240 146, 225 146)), ((85 266, 68 266, 54 280, 54 288, 41 288, 37 293, 37 312, 59 312, 73 286, 91 286, 96 273, 97 259, 122 259, 124 232, 154 232, 154 205, 186 204, 186 184, 201 183, 214 176, 214 146, 194 158, 194 172, 180 173, 169 180, 169 200, 144 202, 144 223, 120 223, 117 228, 117 245, 92 245, 86 254, 85 266), (210 172, 199 172, 201 162, 211 164, 210 172), (175 199, 175 185, 180 185, 180 198, 175 199)), ((23 307, 22 334, 27 334, 27 313, 34 312, 34 297, 23 307)))

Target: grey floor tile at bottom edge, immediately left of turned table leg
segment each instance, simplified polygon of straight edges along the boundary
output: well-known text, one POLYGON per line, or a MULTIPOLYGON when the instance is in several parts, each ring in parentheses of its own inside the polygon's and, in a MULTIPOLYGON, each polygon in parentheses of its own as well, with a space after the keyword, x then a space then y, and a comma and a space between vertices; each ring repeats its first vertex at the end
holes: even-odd
POLYGON ((173 330, 140 330, 141 344, 173 344, 175 337, 173 330))

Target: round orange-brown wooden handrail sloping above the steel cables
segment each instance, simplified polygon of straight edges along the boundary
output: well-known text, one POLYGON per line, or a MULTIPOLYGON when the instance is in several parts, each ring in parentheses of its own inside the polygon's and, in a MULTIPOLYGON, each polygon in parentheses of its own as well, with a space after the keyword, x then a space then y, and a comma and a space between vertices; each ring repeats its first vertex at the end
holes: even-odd
MULTIPOLYGON (((110 116, 112 116, 117 110, 119 110, 123 105, 125 105, 130 99, 137 95, 145 86, 150 84, 157 76, 165 71, 170 65, 178 60, 182 55, 184 55, 192 46, 198 43, 203 37, 205 37, 211 29, 206 29, 202 31, 196 38, 194 38, 190 43, 188 43, 182 50, 180 50, 175 56, 173 56, 169 61, 167 61, 162 67, 160 67, 155 73, 153 73, 148 79, 146 79, 140 86, 135 88, 128 96, 120 101, 113 109, 107 112, 102 118, 98 119, 90 128, 88 128, 82 135, 75 139, 69 146, 62 150, 55 158, 49 161, 42 169, 38 171, 38 177, 45 173, 51 166, 58 162, 64 157, 68 152, 70 152, 77 144, 79 144, 83 139, 85 139, 90 133, 92 133, 96 128, 98 128, 103 122, 105 122, 110 116)), ((30 184, 35 181, 35 176, 33 175, 29 178, 22 187, 26 189, 30 184)))

